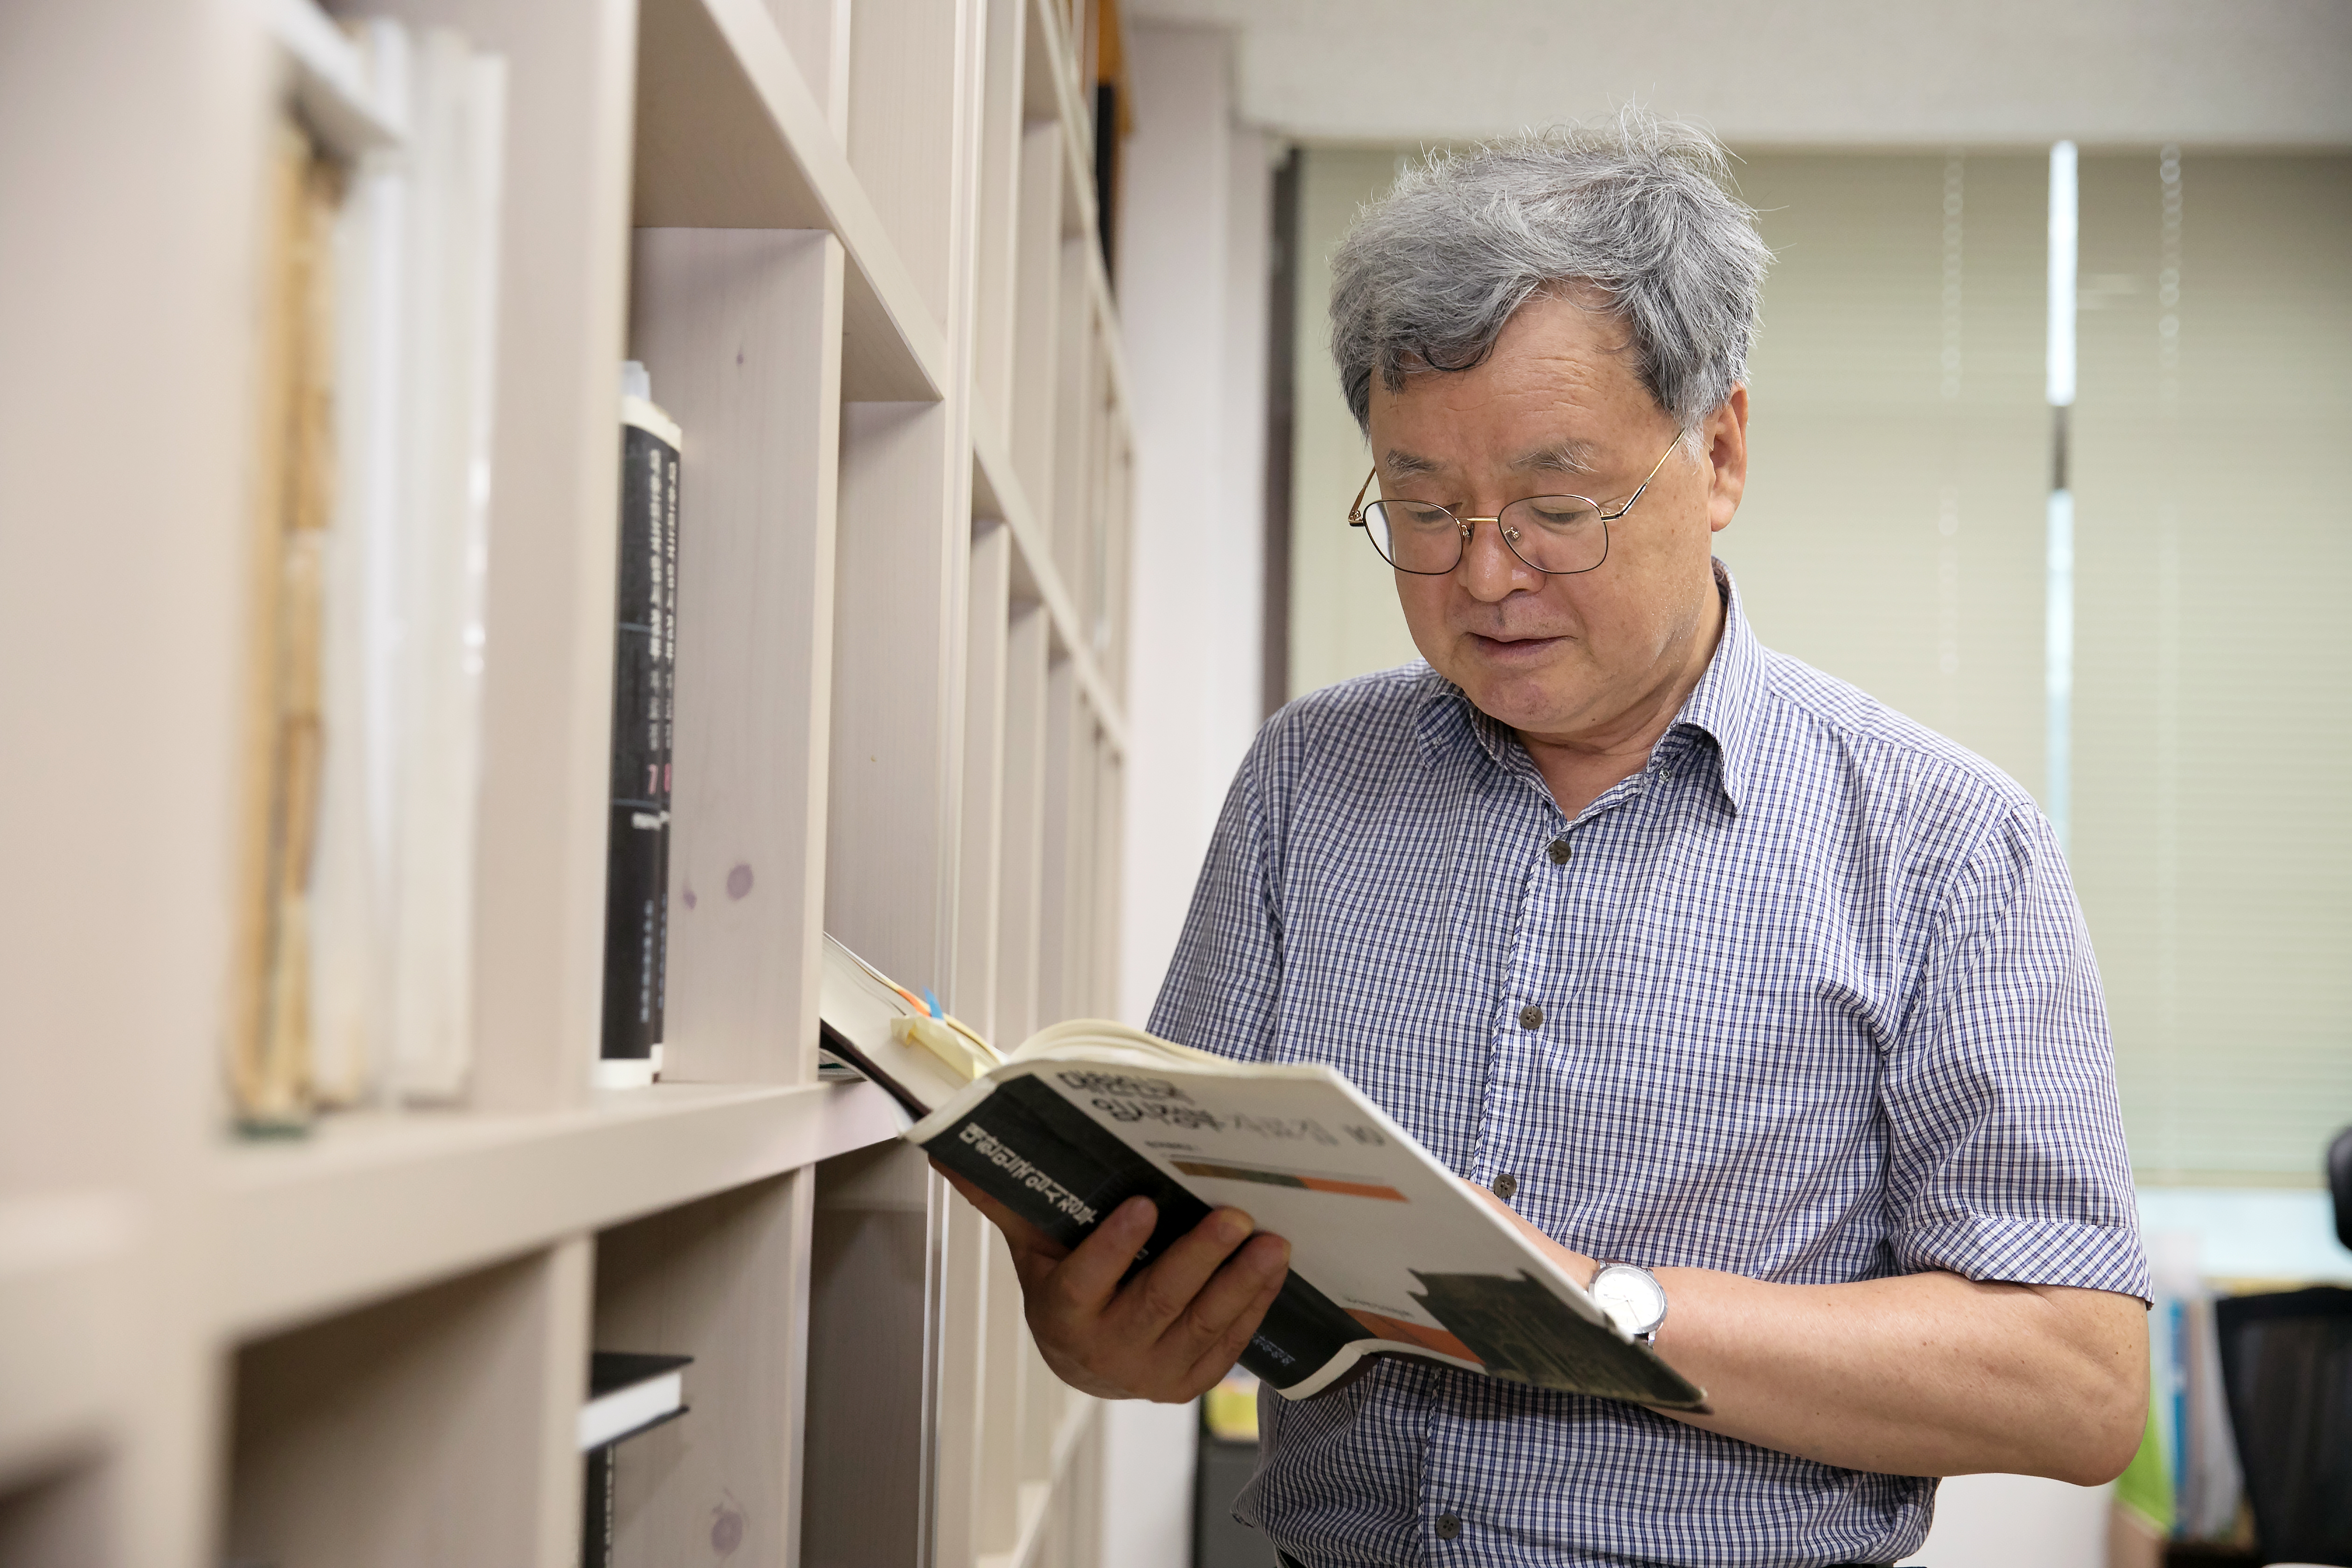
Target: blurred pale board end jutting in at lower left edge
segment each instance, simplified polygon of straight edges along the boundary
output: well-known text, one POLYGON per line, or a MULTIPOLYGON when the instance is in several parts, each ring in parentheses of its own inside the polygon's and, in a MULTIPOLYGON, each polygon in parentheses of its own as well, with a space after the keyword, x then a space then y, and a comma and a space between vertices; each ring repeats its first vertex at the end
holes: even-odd
POLYGON ((125 1396, 136 1204, 0 1199, 0 1486, 92 1443, 125 1396))

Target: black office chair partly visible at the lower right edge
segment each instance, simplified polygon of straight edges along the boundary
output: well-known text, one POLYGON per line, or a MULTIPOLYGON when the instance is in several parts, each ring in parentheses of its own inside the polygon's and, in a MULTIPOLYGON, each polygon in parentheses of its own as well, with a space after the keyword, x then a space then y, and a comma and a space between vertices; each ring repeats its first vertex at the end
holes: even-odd
MULTIPOLYGON (((2328 1145, 2328 1192, 2352 1246, 2352 1128, 2328 1145)), ((2263 1559, 2352 1568, 2352 1291, 2234 1295, 2213 1316, 2263 1559)))

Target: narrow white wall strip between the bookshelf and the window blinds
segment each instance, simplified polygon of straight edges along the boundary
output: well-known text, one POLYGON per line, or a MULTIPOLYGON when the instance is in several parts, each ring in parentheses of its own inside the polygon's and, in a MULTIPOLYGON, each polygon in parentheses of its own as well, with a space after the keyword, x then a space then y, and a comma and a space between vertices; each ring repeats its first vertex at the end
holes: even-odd
MULTIPOLYGON (((1136 430, 1120 1013, 1143 1023, 1261 719, 1268 165, 1232 40, 1136 26, 1117 292, 1136 430)), ((1103 1556, 1192 1561, 1195 1406, 1103 1425, 1103 1556)))

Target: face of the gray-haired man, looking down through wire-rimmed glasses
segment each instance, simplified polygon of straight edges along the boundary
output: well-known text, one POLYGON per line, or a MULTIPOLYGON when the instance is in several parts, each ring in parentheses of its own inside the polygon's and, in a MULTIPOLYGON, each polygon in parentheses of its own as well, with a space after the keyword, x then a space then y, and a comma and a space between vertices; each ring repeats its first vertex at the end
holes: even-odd
MULTIPOLYGON (((1475 524, 1446 576, 1397 574, 1414 644, 1482 712, 1529 738, 1609 738, 1644 698, 1677 684, 1715 621, 1712 534, 1745 480, 1745 390, 1675 451, 1639 505, 1609 524, 1609 559, 1545 576, 1475 524)), ((1402 393, 1371 386, 1371 454, 1388 498, 1494 517, 1522 496, 1588 496, 1616 510, 1675 440, 1642 386, 1625 329, 1541 294, 1468 371, 1425 371, 1402 393)), ((1708 649, 1698 651, 1703 661, 1708 649)))

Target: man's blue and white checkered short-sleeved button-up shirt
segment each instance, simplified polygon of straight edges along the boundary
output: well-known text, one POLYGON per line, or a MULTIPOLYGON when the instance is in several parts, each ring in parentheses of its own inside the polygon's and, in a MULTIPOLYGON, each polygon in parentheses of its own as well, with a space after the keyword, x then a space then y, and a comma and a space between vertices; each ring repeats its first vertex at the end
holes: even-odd
MULTIPOLYGON (((1152 1030, 1338 1067, 1595 1258, 2145 1298, 2049 823, 1983 759, 1759 646, 1717 581, 1705 677, 1576 820, 1425 663, 1275 715, 1152 1030)), ((1414 1359, 1258 1410, 1235 1514, 1312 1568, 1891 1563, 1936 1497, 1414 1359)))

